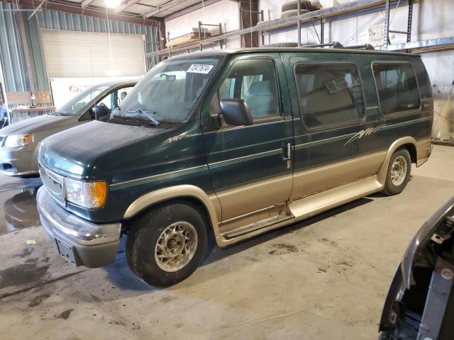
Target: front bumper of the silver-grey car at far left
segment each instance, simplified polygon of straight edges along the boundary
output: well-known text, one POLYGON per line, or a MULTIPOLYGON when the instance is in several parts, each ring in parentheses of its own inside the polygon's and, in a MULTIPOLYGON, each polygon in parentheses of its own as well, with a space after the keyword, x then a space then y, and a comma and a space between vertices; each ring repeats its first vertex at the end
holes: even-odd
POLYGON ((28 150, 27 146, 1 147, 0 174, 7 176, 38 174, 37 161, 33 157, 33 150, 28 150))

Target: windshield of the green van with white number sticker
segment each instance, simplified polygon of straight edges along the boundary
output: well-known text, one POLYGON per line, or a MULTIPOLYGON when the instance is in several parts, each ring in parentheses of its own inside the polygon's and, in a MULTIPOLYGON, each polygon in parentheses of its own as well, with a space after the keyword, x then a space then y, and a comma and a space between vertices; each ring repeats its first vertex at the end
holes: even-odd
POLYGON ((159 125, 163 121, 187 120, 218 64, 216 57, 160 62, 112 111, 109 121, 159 125))

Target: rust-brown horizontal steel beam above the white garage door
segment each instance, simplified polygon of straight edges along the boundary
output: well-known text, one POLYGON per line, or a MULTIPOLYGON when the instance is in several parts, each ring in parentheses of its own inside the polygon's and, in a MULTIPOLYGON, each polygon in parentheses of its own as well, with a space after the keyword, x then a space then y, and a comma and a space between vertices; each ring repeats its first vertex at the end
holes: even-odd
MULTIPOLYGON (((35 8, 36 5, 33 0, 2 0, 2 1, 9 2, 10 4, 17 4, 18 2, 21 6, 28 6, 31 8, 35 8)), ((148 18, 138 18, 136 16, 126 16, 124 14, 111 12, 109 12, 106 15, 106 11, 101 11, 93 8, 82 8, 81 6, 73 6, 69 4, 60 4, 52 1, 45 1, 42 8, 53 9, 54 11, 79 14, 81 16, 93 16, 95 18, 103 19, 107 19, 107 17, 109 16, 109 19, 111 20, 122 21, 124 23, 137 23, 138 25, 156 27, 160 26, 160 22, 157 20, 152 20, 148 18)))

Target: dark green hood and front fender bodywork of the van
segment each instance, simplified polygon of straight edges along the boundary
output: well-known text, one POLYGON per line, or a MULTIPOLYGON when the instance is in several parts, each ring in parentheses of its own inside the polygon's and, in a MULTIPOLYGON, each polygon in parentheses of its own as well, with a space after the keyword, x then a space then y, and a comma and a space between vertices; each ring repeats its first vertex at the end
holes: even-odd
POLYGON ((209 174, 200 125, 188 124, 194 125, 191 130, 188 125, 143 128, 94 121, 45 140, 40 164, 63 176, 107 181, 110 190, 104 208, 87 210, 67 203, 67 209, 93 222, 118 221, 135 198, 169 183, 192 183, 212 191, 206 181, 209 174), (178 130, 184 137, 183 149, 182 143, 171 141, 178 130), (84 143, 77 137, 81 135, 84 143))

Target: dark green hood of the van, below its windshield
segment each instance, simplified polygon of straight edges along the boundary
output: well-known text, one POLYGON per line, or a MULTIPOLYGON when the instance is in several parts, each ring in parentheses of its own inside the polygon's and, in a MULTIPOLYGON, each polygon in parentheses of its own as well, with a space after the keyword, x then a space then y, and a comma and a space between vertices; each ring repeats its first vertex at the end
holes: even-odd
MULTIPOLYGON (((39 151, 40 164, 63 175, 83 179, 106 175, 116 164, 123 164, 145 147, 152 148, 150 138, 169 128, 106 123, 94 120, 46 138, 39 151), (138 145, 143 143, 143 145, 138 145)), ((154 143, 153 143, 154 144, 154 143)))

